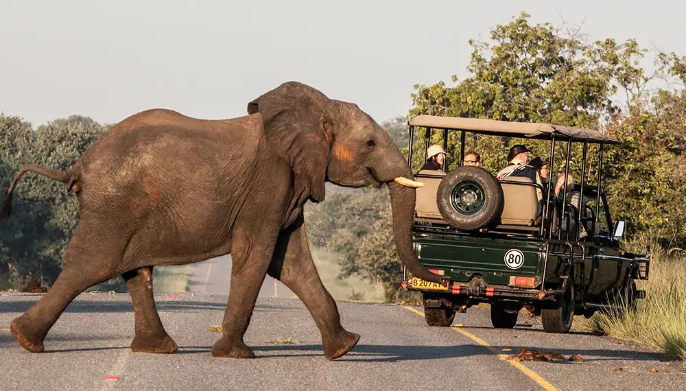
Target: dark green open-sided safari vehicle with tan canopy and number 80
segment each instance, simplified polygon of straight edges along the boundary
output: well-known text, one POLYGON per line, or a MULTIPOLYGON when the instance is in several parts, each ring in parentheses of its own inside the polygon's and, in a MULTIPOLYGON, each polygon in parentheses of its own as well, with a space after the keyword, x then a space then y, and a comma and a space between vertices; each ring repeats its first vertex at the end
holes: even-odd
POLYGON ((593 184, 584 178, 591 169, 602 172, 604 147, 620 141, 548 123, 419 115, 409 124, 410 165, 417 128, 425 129, 426 150, 434 130, 443 132, 443 150, 449 131, 459 131, 461 140, 456 169, 445 172, 444 161, 443 169, 419 170, 414 176, 424 184, 416 193, 414 250, 421 264, 445 276, 448 284, 418 279, 403 268, 401 285, 422 292, 430 326, 448 327, 457 311, 488 303, 493 327, 512 329, 526 308, 541 316, 545 331, 567 333, 574 315, 589 318, 598 310, 635 305, 643 296, 635 281, 648 279, 650 254, 626 250, 621 241, 625 224, 612 220, 602 176, 593 184), (547 185, 523 176, 498 180, 482 167, 463 165, 466 133, 549 141, 547 185), (569 174, 572 143, 583 145, 584 174, 571 187, 565 176, 556 196, 555 148, 566 147, 569 174), (598 144, 595 167, 587 164, 589 144, 598 144))

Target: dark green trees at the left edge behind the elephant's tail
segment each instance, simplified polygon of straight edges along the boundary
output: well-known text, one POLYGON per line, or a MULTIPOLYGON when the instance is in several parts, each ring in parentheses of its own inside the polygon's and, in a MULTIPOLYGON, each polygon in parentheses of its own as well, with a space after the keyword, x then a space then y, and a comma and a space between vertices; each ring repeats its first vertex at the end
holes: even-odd
MULTIPOLYGON (((22 165, 68 169, 106 128, 93 119, 71 116, 34 130, 19 117, 0 116, 0 182, 9 185, 22 165)), ((78 203, 62 183, 26 174, 17 185, 12 218, 0 223, 0 272, 12 265, 51 284, 78 222, 78 203)))

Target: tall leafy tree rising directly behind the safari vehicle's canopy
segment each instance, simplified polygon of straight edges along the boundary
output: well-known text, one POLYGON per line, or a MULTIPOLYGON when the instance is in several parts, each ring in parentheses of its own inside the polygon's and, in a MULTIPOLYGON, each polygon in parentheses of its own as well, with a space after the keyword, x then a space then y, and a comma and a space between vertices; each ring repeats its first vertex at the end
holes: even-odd
MULTIPOLYGON (((621 112, 612 99, 618 91, 632 97, 650 80, 638 66, 645 50, 634 40, 621 45, 613 39, 586 43, 576 31, 563 34, 549 23, 530 25, 529 18, 522 12, 512 22, 496 26, 490 33, 493 43, 469 40, 471 76, 453 87, 445 82, 415 85, 410 117, 430 114, 595 129, 621 112)), ((451 80, 458 82, 455 75, 451 80)), ((415 143, 413 167, 423 163, 425 132, 417 132, 421 142, 415 143)), ((434 133, 431 143, 438 143, 441 135, 434 133)), ((472 137, 465 147, 480 152, 486 168, 499 171, 507 164, 510 147, 509 139, 500 140, 472 137)), ((548 154, 547 143, 528 141, 528 146, 537 155, 548 154)), ((459 134, 451 132, 450 169, 458 165, 459 151, 459 134)), ((559 148, 556 161, 562 156, 559 148)), ((580 162, 574 160, 573 168, 580 169, 580 162)))

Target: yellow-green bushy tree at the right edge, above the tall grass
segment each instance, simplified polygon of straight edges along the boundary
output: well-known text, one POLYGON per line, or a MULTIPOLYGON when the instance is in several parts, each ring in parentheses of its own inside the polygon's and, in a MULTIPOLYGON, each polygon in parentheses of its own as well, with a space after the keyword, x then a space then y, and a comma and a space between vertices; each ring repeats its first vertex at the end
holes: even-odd
MULTIPOLYGON (((674 74, 674 69, 667 69, 674 74)), ((628 237, 686 244, 686 92, 659 90, 632 104, 628 116, 608 126, 623 145, 606 155, 611 213, 628 222, 628 237)))

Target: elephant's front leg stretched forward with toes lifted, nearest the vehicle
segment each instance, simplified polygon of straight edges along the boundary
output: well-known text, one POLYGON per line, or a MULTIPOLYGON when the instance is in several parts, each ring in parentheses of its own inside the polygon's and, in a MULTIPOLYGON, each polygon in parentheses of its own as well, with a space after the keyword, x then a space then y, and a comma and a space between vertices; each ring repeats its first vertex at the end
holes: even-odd
POLYGON ((292 228, 279 236, 269 274, 303 300, 322 333, 327 359, 341 357, 357 344, 359 334, 343 328, 336 303, 319 278, 307 244, 302 215, 292 228))

